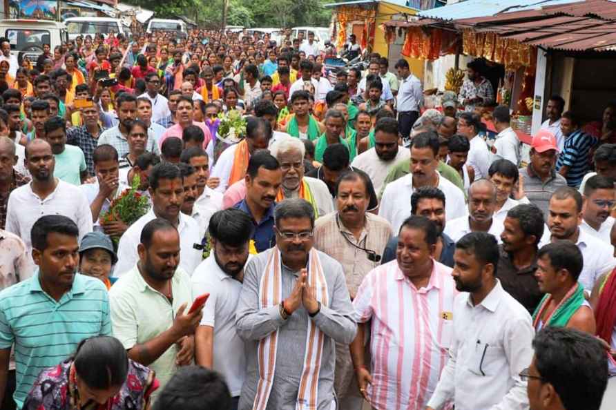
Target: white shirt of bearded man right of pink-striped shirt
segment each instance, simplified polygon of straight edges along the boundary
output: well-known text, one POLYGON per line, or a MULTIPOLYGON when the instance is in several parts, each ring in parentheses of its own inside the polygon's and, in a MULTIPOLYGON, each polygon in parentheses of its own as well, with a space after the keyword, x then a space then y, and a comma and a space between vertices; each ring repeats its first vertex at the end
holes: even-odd
POLYGON ((453 400, 456 410, 528 409, 526 382, 519 373, 532 361, 535 330, 528 311, 503 290, 494 289, 477 306, 470 294, 454 302, 450 360, 428 406, 453 400))

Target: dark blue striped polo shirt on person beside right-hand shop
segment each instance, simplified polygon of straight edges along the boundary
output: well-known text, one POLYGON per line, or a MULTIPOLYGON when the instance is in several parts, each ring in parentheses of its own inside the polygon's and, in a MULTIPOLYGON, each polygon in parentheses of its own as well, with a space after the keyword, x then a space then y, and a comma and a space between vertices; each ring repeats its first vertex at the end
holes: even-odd
POLYGON ((563 151, 558 156, 556 170, 568 166, 567 185, 577 188, 581 179, 590 170, 588 151, 597 144, 597 138, 577 130, 565 139, 563 151))

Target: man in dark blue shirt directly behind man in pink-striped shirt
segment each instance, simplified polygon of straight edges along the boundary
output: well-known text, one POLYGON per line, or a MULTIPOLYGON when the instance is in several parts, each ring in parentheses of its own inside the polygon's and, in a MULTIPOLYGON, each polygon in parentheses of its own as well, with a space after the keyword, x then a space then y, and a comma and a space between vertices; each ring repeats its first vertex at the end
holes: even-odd
MULTIPOLYGON (((422 186, 411 195, 411 215, 420 215, 427 217, 436 226, 436 244, 432 257, 445 266, 452 268, 454 266, 454 248, 456 242, 452 240, 445 230, 445 194, 439 188, 433 186, 422 186)), ((385 251, 383 251, 383 259, 381 264, 386 264, 396 259, 396 248, 398 248, 398 236, 392 237, 385 251)))

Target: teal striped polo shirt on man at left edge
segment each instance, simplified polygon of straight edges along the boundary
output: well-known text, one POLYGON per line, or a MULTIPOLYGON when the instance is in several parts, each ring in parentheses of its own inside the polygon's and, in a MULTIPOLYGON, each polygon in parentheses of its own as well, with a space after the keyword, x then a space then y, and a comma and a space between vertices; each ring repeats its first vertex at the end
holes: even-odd
POLYGON ((59 302, 41 289, 39 272, 0 292, 0 349, 15 344, 17 408, 39 373, 75 353, 77 344, 110 335, 109 299, 103 282, 77 274, 59 302))

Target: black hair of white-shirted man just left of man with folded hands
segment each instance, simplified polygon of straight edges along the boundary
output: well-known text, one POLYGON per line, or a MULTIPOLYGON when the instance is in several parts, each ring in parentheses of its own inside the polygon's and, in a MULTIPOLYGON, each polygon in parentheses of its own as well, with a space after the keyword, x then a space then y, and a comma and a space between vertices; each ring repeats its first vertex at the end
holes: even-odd
POLYGON ((237 208, 215 212, 208 226, 208 232, 213 239, 233 247, 246 244, 254 229, 251 217, 237 208))

